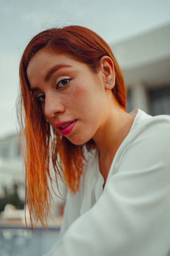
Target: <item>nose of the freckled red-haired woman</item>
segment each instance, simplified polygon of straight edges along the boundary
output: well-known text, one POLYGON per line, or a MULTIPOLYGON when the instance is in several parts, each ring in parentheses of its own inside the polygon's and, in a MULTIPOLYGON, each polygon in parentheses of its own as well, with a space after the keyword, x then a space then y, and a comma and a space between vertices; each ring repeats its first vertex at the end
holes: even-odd
POLYGON ((46 95, 44 114, 47 118, 52 118, 56 113, 62 113, 64 111, 64 105, 55 96, 46 95))

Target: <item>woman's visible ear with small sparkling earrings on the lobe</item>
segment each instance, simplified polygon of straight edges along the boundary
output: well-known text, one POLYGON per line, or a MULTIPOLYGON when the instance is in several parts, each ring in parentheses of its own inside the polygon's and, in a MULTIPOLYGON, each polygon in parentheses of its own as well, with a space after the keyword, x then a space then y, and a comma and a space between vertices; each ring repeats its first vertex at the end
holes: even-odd
POLYGON ((113 60, 109 56, 103 56, 100 62, 103 82, 106 89, 113 89, 115 86, 115 69, 113 60))

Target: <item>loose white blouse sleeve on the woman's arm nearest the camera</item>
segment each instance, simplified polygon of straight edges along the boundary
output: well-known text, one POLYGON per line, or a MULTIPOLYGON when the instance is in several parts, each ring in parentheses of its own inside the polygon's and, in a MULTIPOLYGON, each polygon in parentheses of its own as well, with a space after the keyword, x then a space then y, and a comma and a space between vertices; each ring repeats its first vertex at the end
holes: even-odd
POLYGON ((47 256, 170 255, 170 125, 145 129, 114 168, 96 204, 47 256))

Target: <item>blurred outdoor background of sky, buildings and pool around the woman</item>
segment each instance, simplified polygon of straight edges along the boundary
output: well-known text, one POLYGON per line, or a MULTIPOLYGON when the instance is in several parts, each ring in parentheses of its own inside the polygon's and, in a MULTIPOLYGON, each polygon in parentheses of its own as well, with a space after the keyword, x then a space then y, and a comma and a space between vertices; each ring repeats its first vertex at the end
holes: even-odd
POLYGON ((128 111, 170 114, 170 1, 0 0, 0 7, 0 254, 39 256, 58 239, 64 200, 54 201, 49 231, 37 226, 28 234, 15 107, 24 48, 49 27, 88 27, 112 48, 124 75, 128 111))

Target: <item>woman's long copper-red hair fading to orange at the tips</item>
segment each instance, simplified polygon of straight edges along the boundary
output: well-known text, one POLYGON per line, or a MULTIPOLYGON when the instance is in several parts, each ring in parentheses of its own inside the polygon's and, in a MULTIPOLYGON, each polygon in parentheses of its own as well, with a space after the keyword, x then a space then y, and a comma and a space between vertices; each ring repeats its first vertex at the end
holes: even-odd
MULTIPOLYGON (((24 163, 26 170, 26 203, 28 204, 31 224, 32 215, 46 227, 46 217, 51 203, 49 181, 52 183, 49 162, 56 177, 65 180, 72 194, 80 185, 83 171, 84 148, 90 150, 94 142, 85 145, 74 145, 64 136, 55 133, 37 106, 30 90, 27 67, 32 56, 41 48, 48 48, 57 53, 71 54, 75 59, 86 63, 93 72, 100 67, 102 56, 109 56, 114 62, 116 82, 113 94, 125 109, 126 93, 123 76, 116 59, 107 43, 95 32, 81 27, 68 26, 52 28, 37 34, 27 45, 19 67, 21 94, 18 109, 21 134, 24 136, 24 163)), ((58 178, 56 178, 56 182, 58 178)), ((58 183, 57 183, 58 186, 58 183)))

